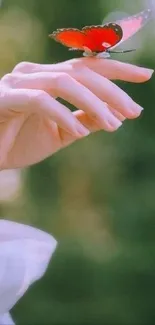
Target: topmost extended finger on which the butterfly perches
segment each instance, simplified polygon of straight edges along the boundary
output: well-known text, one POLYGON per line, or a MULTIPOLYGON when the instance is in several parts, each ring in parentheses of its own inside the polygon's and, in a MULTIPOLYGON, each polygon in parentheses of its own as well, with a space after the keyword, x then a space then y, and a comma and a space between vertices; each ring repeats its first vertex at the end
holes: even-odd
POLYGON ((129 63, 119 62, 111 59, 78 58, 56 64, 38 64, 23 62, 19 63, 13 72, 65 72, 70 74, 73 69, 81 71, 88 67, 94 72, 111 80, 123 80, 128 82, 142 83, 148 81, 154 70, 138 67, 129 63))

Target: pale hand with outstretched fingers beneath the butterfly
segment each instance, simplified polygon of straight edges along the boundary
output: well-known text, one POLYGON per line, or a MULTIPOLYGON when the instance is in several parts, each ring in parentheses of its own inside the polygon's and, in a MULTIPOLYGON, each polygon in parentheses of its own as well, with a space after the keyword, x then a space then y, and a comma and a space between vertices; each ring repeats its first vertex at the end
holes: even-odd
POLYGON ((0 80, 0 169, 30 166, 92 132, 114 132, 139 117, 142 108, 112 80, 142 83, 152 73, 111 59, 19 63, 0 80))

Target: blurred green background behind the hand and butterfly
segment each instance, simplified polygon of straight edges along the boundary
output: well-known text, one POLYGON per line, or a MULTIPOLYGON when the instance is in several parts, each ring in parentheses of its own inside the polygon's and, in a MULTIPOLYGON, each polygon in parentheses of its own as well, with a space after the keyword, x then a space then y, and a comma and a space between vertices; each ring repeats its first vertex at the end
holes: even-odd
MULTIPOLYGON (((48 38, 56 28, 134 14, 146 1, 4 0, 0 75, 20 61, 53 63, 76 53, 48 38)), ((155 22, 116 59, 154 68, 155 22)), ((59 242, 48 271, 13 309, 17 324, 155 324, 155 79, 117 82, 145 110, 114 134, 98 132, 25 170, 0 174, 1 218, 59 242)))

